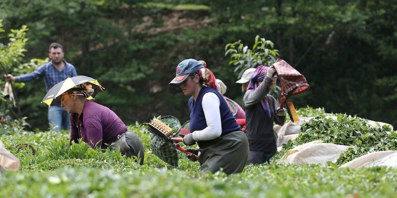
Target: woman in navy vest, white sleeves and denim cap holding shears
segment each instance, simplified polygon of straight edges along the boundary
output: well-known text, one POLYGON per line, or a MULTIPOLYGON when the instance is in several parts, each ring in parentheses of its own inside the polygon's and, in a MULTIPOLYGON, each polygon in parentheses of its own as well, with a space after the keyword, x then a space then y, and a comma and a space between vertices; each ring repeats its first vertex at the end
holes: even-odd
MULTIPOLYGON (((225 99, 218 92, 218 83, 209 69, 195 59, 183 60, 176 68, 177 84, 189 99, 190 131, 183 137, 187 149, 198 155, 201 173, 215 173, 222 169, 226 174, 241 173, 247 163, 249 145, 225 99)), ((187 155, 194 161, 192 155, 187 155)))

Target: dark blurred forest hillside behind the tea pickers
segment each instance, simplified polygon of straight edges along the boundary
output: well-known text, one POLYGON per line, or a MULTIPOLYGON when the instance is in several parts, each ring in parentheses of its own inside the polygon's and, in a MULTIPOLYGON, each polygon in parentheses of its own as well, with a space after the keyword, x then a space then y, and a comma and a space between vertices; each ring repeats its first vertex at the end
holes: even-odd
MULTIPOLYGON (((229 65, 225 46, 241 40, 251 49, 259 35, 310 84, 289 99, 295 108, 397 126, 396 0, 1 0, 0 19, 0 48, 12 42, 11 29, 25 28, 19 36, 27 38, 24 56, 3 62, 10 73, 33 71, 59 42, 79 75, 106 88, 95 102, 125 124, 160 114, 189 119, 189 97, 168 86, 188 58, 206 61, 225 95, 241 103, 241 70, 229 65)), ((29 130, 48 129, 44 80, 13 86, 20 105, 13 111, 28 117, 29 130)))

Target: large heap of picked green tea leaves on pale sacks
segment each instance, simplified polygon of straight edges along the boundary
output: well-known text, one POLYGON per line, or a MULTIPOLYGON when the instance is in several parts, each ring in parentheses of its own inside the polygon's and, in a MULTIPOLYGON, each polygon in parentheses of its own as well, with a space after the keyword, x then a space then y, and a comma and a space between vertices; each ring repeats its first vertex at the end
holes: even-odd
POLYGON ((326 114, 320 114, 302 124, 297 139, 283 145, 283 150, 274 159, 280 158, 287 150, 297 145, 314 140, 351 146, 339 156, 337 166, 370 152, 397 150, 397 133, 389 125, 370 125, 366 119, 349 117, 346 114, 334 116, 337 116, 336 120, 326 114))

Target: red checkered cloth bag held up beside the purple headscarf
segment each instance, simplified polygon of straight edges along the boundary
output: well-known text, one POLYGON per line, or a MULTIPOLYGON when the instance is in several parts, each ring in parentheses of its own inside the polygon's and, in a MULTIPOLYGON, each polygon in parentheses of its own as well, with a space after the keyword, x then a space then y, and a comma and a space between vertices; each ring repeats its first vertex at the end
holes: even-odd
POLYGON ((273 64, 281 82, 281 94, 289 93, 295 86, 298 88, 292 95, 297 95, 309 89, 306 78, 282 59, 273 64))

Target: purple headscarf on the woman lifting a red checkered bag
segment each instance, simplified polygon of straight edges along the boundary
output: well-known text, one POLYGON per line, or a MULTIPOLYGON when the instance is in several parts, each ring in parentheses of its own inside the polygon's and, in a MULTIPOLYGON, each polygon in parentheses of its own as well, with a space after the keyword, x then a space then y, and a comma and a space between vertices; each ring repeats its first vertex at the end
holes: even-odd
MULTIPOLYGON (((254 71, 254 73, 251 75, 247 90, 250 90, 250 89, 255 90, 256 88, 258 88, 258 86, 259 86, 258 82, 262 82, 265 79, 266 75, 268 74, 268 69, 269 69, 269 67, 267 67, 267 66, 259 65, 256 68, 256 70, 254 71)), ((277 75, 274 74, 273 78, 274 77, 277 78, 277 75)), ((263 99, 262 99, 262 101, 260 101, 260 103, 262 103, 263 109, 265 110, 266 114, 270 118, 270 107, 269 107, 267 97, 266 96, 263 97, 263 99)))

